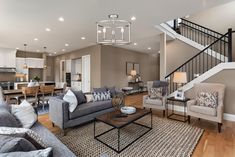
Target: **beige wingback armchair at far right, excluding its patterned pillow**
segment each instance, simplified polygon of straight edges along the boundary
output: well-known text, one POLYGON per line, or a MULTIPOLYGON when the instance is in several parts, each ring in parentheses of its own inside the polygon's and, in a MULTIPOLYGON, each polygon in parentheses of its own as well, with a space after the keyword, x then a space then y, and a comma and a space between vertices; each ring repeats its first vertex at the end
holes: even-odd
POLYGON ((196 100, 190 100, 187 102, 187 115, 190 123, 190 116, 214 121, 218 123, 218 131, 221 131, 221 125, 223 122, 223 110, 224 110, 224 93, 225 85, 217 83, 197 83, 194 85, 194 98, 200 92, 218 92, 218 105, 217 108, 210 108, 205 106, 198 106, 196 100))

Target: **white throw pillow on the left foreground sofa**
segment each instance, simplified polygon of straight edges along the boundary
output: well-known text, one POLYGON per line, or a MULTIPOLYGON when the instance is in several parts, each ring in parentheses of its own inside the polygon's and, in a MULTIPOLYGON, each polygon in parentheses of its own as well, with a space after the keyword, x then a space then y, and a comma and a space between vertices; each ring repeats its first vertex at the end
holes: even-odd
POLYGON ((21 122, 23 128, 31 128, 38 120, 33 106, 26 100, 20 105, 12 105, 11 113, 21 122))

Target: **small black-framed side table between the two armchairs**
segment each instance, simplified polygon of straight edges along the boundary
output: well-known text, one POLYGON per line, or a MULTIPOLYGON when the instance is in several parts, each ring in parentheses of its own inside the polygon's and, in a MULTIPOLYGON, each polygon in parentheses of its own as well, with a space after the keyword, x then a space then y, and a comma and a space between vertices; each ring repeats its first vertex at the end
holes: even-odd
POLYGON ((188 118, 187 118, 187 115, 186 115, 186 107, 187 107, 187 101, 189 101, 189 100, 190 100, 189 98, 185 98, 183 100, 175 99, 174 97, 167 98, 167 103, 166 103, 167 118, 173 119, 173 120, 178 120, 178 121, 181 121, 181 122, 188 121, 188 118), (171 107, 171 114, 169 114, 169 111, 168 111, 169 110, 168 109, 169 102, 171 102, 171 106, 172 106, 171 107), (183 115, 175 113, 175 110, 174 110, 175 102, 179 102, 179 103, 183 104, 183 107, 184 107, 183 115), (183 120, 177 119, 177 118, 175 118, 175 116, 183 117, 183 120))

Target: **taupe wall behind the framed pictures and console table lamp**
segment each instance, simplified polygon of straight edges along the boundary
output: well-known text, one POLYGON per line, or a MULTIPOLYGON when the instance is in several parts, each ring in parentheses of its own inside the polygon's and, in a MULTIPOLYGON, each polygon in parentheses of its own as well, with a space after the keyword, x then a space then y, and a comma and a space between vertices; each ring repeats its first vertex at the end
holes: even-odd
POLYGON ((127 86, 126 62, 140 64, 140 76, 144 82, 159 79, 159 57, 157 56, 113 46, 102 46, 101 85, 118 88, 127 86))

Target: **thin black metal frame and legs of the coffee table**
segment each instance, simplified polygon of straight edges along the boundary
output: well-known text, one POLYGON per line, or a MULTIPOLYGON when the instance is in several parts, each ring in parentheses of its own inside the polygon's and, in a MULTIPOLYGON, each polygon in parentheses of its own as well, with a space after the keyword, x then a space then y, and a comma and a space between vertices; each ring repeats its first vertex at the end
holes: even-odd
POLYGON ((126 149, 127 147, 129 147, 129 146, 130 146, 131 144, 133 144, 135 141, 137 141, 137 140, 140 139, 142 136, 144 136, 146 133, 148 133, 150 130, 152 130, 152 126, 153 126, 153 117, 152 117, 152 111, 151 111, 151 110, 150 110, 149 112, 147 112, 146 114, 144 114, 144 115, 142 115, 142 116, 140 116, 140 117, 138 117, 138 118, 136 118, 136 119, 134 119, 134 120, 132 120, 132 121, 130 121, 130 122, 128 122, 128 123, 126 123, 125 125, 123 125, 123 126, 121 126, 121 127, 116 127, 115 125, 108 124, 108 123, 105 122, 105 121, 102 121, 102 120, 100 120, 100 119, 95 118, 95 121, 94 121, 94 138, 95 138, 97 141, 99 141, 99 142, 103 143, 104 145, 106 145, 107 147, 111 148, 111 149, 114 150, 115 152, 121 153, 124 149, 126 149), (144 116, 149 115, 149 114, 150 114, 150 117, 151 117, 151 121, 150 121, 151 124, 150 124, 150 127, 135 122, 135 121, 137 121, 137 120, 139 120, 139 119, 141 119, 141 118, 143 118, 144 116), (109 125, 109 126, 112 126, 113 128, 112 128, 112 129, 109 129, 109 130, 107 130, 107 131, 105 131, 105 132, 103 132, 103 133, 101 133, 101 134, 99 134, 99 135, 95 135, 95 131, 96 131, 96 122, 98 122, 98 121, 103 122, 103 123, 105 123, 105 124, 107 124, 107 125, 109 125), (136 138, 134 141, 132 141, 131 143, 129 143, 128 145, 126 145, 124 148, 120 149, 120 130, 121 130, 122 128, 124 128, 125 126, 127 126, 127 125, 129 125, 129 124, 132 124, 132 123, 133 123, 133 124, 136 124, 136 125, 139 125, 139 126, 142 126, 142 127, 145 127, 145 128, 147 128, 148 130, 145 131, 143 134, 141 134, 141 135, 140 135, 138 138, 136 138), (107 143, 105 143, 104 141, 102 141, 102 140, 100 140, 100 139, 98 138, 98 137, 100 137, 100 136, 102 136, 102 135, 104 135, 104 134, 106 134, 106 133, 108 133, 108 132, 110 132, 110 131, 112 131, 112 130, 114 130, 114 129, 117 129, 117 130, 118 130, 118 149, 113 148, 112 146, 108 145, 107 143))

